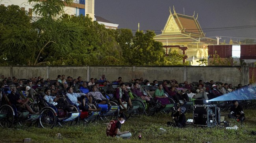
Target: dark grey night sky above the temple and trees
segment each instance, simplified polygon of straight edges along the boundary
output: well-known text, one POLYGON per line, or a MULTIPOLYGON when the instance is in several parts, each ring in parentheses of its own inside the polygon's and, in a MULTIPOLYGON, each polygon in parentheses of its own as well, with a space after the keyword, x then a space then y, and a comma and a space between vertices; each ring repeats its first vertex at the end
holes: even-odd
POLYGON ((95 0, 95 15, 119 24, 119 29, 135 32, 139 23, 140 30, 161 34, 170 14, 169 7, 173 13, 173 5, 176 13, 185 11, 192 16, 195 11, 195 17, 198 13, 197 20, 206 37, 256 41, 256 0, 95 0), (248 25, 253 26, 248 28, 248 25))

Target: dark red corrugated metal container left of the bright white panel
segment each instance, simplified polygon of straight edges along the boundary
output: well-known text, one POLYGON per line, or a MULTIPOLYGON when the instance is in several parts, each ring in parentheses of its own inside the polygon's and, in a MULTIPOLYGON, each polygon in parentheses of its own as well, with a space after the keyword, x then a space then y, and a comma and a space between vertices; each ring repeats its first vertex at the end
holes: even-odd
POLYGON ((229 58, 232 56, 232 45, 208 45, 209 58, 217 54, 220 58, 229 58))

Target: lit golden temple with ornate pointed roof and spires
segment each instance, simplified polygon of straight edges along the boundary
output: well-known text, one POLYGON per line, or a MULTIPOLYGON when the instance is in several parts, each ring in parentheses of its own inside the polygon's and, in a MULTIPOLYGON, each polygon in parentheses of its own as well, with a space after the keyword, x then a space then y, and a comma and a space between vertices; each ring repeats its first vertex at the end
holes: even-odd
POLYGON ((182 54, 182 50, 178 47, 166 47, 166 45, 187 47, 185 54, 188 58, 186 61, 191 61, 191 65, 196 65, 196 59, 208 57, 207 46, 217 44, 217 40, 205 36, 197 18, 198 14, 195 17, 195 12, 193 16, 188 16, 176 13, 174 7, 172 13, 170 8, 170 15, 165 27, 161 34, 154 37, 154 40, 163 43, 166 54, 173 50, 182 54))

